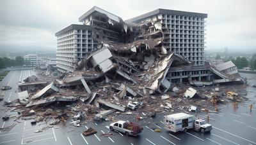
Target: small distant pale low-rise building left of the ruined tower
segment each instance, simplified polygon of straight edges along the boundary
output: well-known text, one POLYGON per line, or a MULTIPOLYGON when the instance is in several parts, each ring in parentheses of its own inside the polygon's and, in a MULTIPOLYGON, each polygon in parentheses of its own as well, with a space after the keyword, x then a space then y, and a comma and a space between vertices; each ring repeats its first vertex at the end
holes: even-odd
POLYGON ((25 55, 24 60, 27 66, 41 66, 45 64, 45 61, 36 54, 25 55))

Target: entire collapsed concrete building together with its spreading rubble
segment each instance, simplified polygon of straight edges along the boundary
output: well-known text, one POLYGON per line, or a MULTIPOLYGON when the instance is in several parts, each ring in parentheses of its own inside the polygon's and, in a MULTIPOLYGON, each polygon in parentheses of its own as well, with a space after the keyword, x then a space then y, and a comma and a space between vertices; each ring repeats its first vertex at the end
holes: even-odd
POLYGON ((196 43, 198 39, 204 42, 202 27, 206 17, 206 14, 158 9, 123 21, 93 7, 79 18, 83 25, 72 24, 56 33, 60 75, 50 76, 48 68, 40 73, 48 77, 29 76, 19 84, 19 99, 4 105, 21 112, 17 119, 51 120, 49 125, 65 123, 63 118, 73 116, 71 123, 76 127, 81 116, 86 121, 110 120, 112 117, 106 116, 115 111, 124 113, 127 103, 132 101, 140 102, 141 106, 141 110, 133 110, 135 114, 150 117, 156 116, 156 112, 168 113, 170 109, 186 111, 191 102, 207 108, 210 104, 205 100, 212 99, 212 94, 208 94, 212 88, 200 87, 202 90, 197 91, 190 85, 243 82, 243 78, 232 62, 217 66, 204 62, 204 43, 196 43), (186 41, 186 48, 182 41, 186 41), (200 59, 197 53, 201 53, 200 59), (175 84, 180 82, 189 85, 175 84), (202 100, 193 100, 196 97, 202 100), (31 115, 36 116, 29 118, 31 115))

